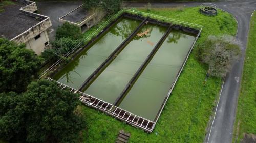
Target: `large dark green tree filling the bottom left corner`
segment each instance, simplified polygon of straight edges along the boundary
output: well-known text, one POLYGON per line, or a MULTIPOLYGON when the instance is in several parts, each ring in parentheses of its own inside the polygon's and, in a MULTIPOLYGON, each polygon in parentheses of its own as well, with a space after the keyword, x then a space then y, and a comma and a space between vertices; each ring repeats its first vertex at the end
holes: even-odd
POLYGON ((0 136, 10 142, 77 142, 84 120, 78 95, 54 82, 32 82, 22 95, 0 95, 0 136))

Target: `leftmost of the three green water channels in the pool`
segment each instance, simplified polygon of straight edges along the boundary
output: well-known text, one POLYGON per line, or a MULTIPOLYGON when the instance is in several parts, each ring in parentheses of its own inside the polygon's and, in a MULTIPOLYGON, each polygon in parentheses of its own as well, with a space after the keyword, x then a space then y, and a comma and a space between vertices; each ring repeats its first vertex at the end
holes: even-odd
POLYGON ((122 18, 88 50, 58 72, 53 79, 78 89, 104 60, 137 28, 141 21, 122 18))

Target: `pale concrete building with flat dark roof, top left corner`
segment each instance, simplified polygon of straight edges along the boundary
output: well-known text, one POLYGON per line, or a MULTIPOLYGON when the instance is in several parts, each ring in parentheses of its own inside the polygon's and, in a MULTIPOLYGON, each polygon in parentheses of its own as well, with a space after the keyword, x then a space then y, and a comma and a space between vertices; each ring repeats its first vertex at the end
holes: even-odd
POLYGON ((49 17, 35 13, 35 2, 19 0, 15 5, 5 7, 0 13, 0 37, 17 44, 26 44, 40 55, 49 46, 47 30, 52 26, 49 17))

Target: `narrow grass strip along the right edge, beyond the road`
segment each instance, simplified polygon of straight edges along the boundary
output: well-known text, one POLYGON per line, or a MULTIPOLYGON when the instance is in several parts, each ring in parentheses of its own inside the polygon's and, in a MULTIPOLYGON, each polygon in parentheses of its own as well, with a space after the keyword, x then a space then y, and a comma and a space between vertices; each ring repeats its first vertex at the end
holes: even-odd
POLYGON ((245 63, 238 99, 236 142, 240 142, 244 134, 256 135, 256 12, 251 17, 245 63), (238 137, 238 138, 237 138, 238 137))

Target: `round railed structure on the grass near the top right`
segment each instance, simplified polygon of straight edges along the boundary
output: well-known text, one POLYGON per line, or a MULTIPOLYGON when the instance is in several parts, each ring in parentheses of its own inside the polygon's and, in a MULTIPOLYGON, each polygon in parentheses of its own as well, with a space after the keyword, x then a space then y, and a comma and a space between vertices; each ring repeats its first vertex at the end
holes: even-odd
POLYGON ((200 5, 200 12, 205 15, 217 15, 218 6, 212 3, 203 3, 200 5))

